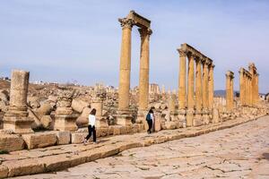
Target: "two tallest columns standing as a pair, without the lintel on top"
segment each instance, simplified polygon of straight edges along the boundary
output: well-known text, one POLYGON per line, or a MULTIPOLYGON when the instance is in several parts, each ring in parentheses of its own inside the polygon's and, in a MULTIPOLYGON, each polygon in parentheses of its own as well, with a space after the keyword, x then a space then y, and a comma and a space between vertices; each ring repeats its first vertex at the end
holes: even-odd
MULTIPOLYGON (((134 20, 119 19, 122 27, 122 43, 120 54, 118 110, 129 108, 130 71, 131 71, 131 40, 134 20)), ((150 66, 150 36, 149 28, 139 29, 141 37, 140 73, 139 73, 139 109, 146 110, 149 101, 149 66, 150 66)))

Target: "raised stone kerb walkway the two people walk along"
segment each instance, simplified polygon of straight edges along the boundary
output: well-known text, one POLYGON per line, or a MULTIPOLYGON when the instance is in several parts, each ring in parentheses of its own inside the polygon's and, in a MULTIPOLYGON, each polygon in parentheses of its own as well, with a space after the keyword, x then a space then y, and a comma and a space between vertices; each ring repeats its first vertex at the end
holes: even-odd
POLYGON ((69 144, 43 149, 13 151, 10 154, 0 155, 0 178, 63 170, 67 167, 77 166, 99 158, 107 158, 126 149, 195 137, 204 133, 244 124, 262 116, 264 115, 251 118, 237 118, 220 124, 161 131, 150 135, 147 133, 117 135, 100 138, 98 139, 98 144, 69 144))

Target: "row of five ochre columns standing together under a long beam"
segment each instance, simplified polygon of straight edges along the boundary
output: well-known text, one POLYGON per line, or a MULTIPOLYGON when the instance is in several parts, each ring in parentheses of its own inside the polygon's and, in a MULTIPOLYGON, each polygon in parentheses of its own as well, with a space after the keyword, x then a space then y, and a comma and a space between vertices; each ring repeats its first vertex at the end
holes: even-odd
MULTIPOLYGON (((178 108, 201 113, 213 108, 213 68, 212 60, 178 49, 178 108), (187 62, 188 59, 188 62, 187 62), (186 68, 187 64, 187 68, 186 68), (202 72, 203 68, 203 72, 202 72), (186 77, 187 74, 187 77, 186 77), (187 79, 187 81, 186 81, 187 79), (186 85, 187 84, 187 85, 186 85), (186 91, 187 86, 187 91, 186 91)), ((187 115, 187 126, 193 125, 193 115, 187 115)))

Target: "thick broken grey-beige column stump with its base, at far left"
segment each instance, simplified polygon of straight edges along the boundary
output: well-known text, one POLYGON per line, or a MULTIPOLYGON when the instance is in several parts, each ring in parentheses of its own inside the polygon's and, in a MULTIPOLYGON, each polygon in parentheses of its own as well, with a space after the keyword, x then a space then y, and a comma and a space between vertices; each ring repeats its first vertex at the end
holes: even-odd
POLYGON ((4 130, 15 133, 30 133, 34 122, 27 112, 29 72, 13 70, 10 87, 10 106, 4 115, 4 130))

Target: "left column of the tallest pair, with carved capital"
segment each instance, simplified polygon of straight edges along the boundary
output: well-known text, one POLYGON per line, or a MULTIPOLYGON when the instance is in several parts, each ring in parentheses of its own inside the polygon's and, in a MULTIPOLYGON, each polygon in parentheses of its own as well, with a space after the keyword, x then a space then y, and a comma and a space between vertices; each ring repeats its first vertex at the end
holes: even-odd
POLYGON ((131 36, 134 21, 119 19, 122 27, 122 42, 120 53, 118 109, 127 110, 129 107, 130 70, 131 70, 131 36))

